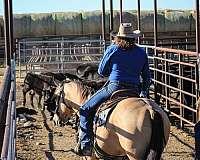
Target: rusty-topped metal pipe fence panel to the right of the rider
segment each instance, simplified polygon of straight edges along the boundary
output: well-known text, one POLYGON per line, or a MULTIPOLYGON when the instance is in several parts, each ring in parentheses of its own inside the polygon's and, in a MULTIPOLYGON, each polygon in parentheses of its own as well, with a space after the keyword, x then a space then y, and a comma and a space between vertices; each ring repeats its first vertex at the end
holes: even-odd
POLYGON ((148 53, 153 77, 150 97, 179 119, 181 127, 186 124, 194 126, 199 120, 197 53, 154 46, 142 47, 148 53))

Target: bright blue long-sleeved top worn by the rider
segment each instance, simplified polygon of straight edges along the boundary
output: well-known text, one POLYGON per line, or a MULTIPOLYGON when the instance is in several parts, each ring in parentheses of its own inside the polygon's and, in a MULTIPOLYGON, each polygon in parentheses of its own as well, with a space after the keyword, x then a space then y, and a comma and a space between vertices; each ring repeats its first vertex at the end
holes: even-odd
POLYGON ((151 75, 146 52, 135 45, 132 49, 123 50, 118 45, 109 46, 99 64, 98 73, 109 76, 111 82, 125 82, 140 84, 142 78, 143 88, 147 90, 151 75))

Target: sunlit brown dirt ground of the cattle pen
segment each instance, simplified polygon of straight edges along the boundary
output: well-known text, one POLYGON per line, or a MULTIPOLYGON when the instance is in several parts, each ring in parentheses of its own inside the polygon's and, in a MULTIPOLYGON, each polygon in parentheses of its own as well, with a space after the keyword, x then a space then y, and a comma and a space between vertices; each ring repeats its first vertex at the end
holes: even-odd
MULTIPOLYGON (((30 107, 27 95, 27 105, 30 107)), ((17 85, 17 107, 22 107, 22 92, 17 85)), ((29 115, 28 121, 17 121, 17 159, 19 160, 78 160, 72 148, 75 131, 70 126, 55 127, 49 114, 34 108, 37 114, 29 115)), ((193 160, 193 133, 171 127, 170 140, 162 155, 164 160, 193 160)))

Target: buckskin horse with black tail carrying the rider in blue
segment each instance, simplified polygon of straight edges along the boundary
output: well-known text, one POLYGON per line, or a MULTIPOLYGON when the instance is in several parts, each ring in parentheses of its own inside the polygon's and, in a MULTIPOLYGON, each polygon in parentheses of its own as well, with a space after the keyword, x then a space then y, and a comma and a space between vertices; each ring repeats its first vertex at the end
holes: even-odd
MULTIPOLYGON (((55 91, 57 118, 69 118, 92 96, 82 82, 67 80, 55 91)), ((129 97, 113 109, 105 125, 96 127, 94 136, 103 159, 159 160, 169 139, 167 114, 152 100, 129 97)), ((83 157, 97 159, 97 156, 83 157)))

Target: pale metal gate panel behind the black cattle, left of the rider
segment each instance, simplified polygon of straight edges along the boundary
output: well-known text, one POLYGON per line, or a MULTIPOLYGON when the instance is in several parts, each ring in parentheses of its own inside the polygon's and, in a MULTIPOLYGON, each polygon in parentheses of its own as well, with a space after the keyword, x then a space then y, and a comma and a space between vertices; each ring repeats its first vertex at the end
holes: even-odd
POLYGON ((48 41, 23 39, 18 42, 19 75, 31 72, 74 72, 82 63, 99 63, 105 41, 65 40, 48 41))

